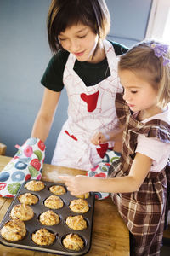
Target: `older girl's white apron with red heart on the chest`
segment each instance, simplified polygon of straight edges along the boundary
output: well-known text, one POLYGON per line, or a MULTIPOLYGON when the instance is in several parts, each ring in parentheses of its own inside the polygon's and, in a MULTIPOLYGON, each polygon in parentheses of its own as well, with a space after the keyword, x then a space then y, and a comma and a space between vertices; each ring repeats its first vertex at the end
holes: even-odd
POLYGON ((112 44, 104 40, 105 54, 111 75, 87 87, 74 71, 75 55, 70 54, 65 64, 63 81, 69 99, 68 119, 59 133, 52 165, 90 170, 104 157, 114 142, 94 146, 91 137, 97 131, 106 133, 116 129, 115 97, 122 92, 117 77, 118 57, 112 44))

